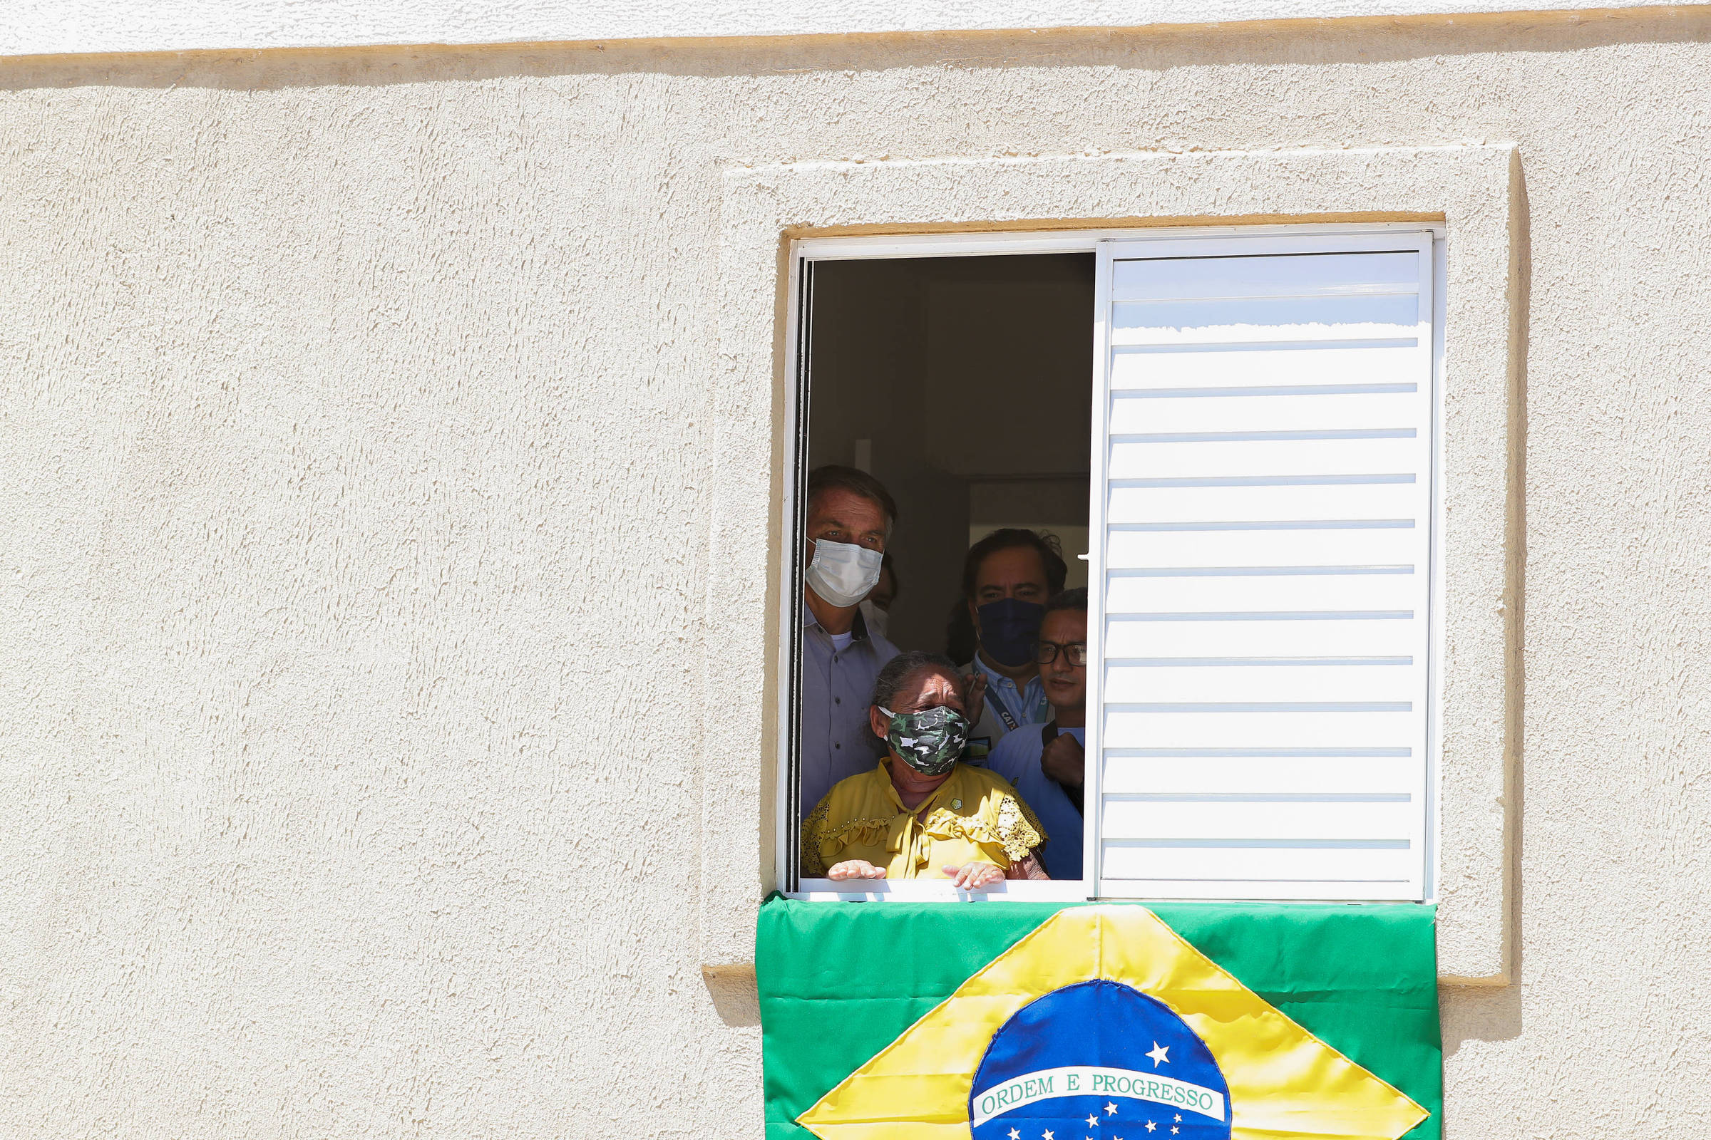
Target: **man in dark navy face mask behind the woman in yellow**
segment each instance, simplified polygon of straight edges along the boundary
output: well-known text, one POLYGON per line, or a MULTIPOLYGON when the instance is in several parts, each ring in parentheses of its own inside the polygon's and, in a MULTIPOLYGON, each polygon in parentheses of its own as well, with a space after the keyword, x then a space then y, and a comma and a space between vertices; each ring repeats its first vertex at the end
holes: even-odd
MULTIPOLYGON (((979 648, 963 673, 984 692, 986 706, 968 735, 970 764, 986 764, 1004 733, 1051 718, 1033 638, 1044 602, 1063 590, 1063 555, 1032 530, 1004 528, 974 544, 963 559, 963 596, 979 648)), ((970 708, 977 708, 970 704, 970 708)))

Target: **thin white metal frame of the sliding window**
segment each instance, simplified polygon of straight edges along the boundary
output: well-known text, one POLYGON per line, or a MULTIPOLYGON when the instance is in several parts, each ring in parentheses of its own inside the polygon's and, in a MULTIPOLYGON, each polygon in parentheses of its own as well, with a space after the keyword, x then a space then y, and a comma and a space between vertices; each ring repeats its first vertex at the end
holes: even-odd
MULTIPOLYGON (((1098 658, 1098 638, 1102 632, 1100 615, 1104 612, 1104 443, 1105 419, 1109 415, 1109 398, 1098 398, 1109 388, 1109 328, 1105 311, 1109 308, 1109 272, 1112 243, 1126 244, 1146 243, 1181 243, 1184 250, 1194 253, 1292 253, 1314 251, 1333 253, 1340 250, 1371 250, 1372 239, 1384 234, 1420 234, 1432 236, 1432 538, 1430 538, 1430 614, 1427 641, 1430 660, 1427 665, 1427 747, 1425 747, 1425 812, 1424 836, 1424 884, 1425 901, 1437 899, 1437 856, 1439 856, 1439 784, 1441 784, 1441 730, 1442 711, 1442 638, 1444 638, 1444 573, 1441 535, 1444 494, 1444 408, 1442 408, 1442 364, 1444 364, 1444 316, 1446 291, 1446 227, 1430 222, 1355 222, 1355 224, 1302 224, 1302 226, 1193 226, 1193 227, 1157 227, 1157 229, 1085 229, 1057 232, 975 232, 975 234, 922 234, 922 236, 874 236, 874 238, 808 238, 789 243, 789 279, 787 279, 787 321, 785 321, 785 444, 784 444, 784 494, 780 496, 784 518, 779 533, 785 537, 780 544, 779 581, 782 583, 779 598, 779 788, 775 795, 775 889, 790 899, 809 901, 903 901, 903 902, 951 902, 951 901, 1090 901, 1105 896, 1098 894, 1098 817, 1083 827, 1083 879, 1080 880, 1003 880, 984 890, 958 890, 948 882, 927 880, 866 880, 857 889, 849 884, 837 884, 826 879, 796 879, 797 820, 801 808, 792 795, 790 769, 797 752, 797 672, 799 672, 799 629, 801 629, 801 549, 802 549, 802 502, 801 482, 806 477, 802 463, 806 460, 806 408, 802 407, 804 361, 802 342, 808 313, 802 309, 804 267, 818 261, 852 261, 852 260, 895 260, 895 258, 944 258, 944 256, 1006 256, 1025 253, 1090 253, 1098 258, 1095 270, 1095 299, 1090 314, 1090 332, 1093 337, 1093 422, 1090 424, 1090 480, 1088 480, 1088 533, 1095 537, 1088 544, 1088 585, 1097 586, 1097 602, 1088 607, 1088 655, 1098 658), (1189 244, 1191 243, 1191 244, 1189 244), (794 819, 792 819, 794 815, 794 819)), ((1098 670, 1088 675, 1088 708, 1100 708, 1102 677, 1098 670)), ((1098 755, 1100 716, 1088 720, 1088 754, 1098 755)), ((1085 802, 1100 803, 1100 764, 1090 764, 1086 773, 1085 802)), ((1131 896, 1110 896, 1129 899, 1131 896)), ((1181 899, 1172 899, 1181 901, 1181 899)), ((1235 901, 1222 896, 1206 896, 1205 901, 1235 901)), ((1307 899, 1311 901, 1311 899, 1307 899)), ((1347 899, 1345 899, 1347 901, 1347 899)))

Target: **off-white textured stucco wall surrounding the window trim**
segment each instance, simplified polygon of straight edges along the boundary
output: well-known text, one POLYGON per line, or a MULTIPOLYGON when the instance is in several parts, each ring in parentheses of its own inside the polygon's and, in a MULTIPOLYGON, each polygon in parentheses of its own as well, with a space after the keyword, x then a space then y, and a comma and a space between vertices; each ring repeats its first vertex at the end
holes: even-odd
POLYGON ((686 732, 722 166, 1485 138, 1519 981, 1446 991, 1446 1114, 1704 1133, 1708 75, 1692 12, 5 67, 0 1133, 758 1135, 693 894, 751 761, 686 732))

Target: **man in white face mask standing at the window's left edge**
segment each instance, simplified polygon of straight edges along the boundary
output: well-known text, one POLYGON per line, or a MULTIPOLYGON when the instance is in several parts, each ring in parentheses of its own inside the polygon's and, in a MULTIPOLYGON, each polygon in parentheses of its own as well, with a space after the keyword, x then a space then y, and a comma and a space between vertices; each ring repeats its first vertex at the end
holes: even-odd
POLYGON ((832 784, 871 771, 883 745, 867 732, 867 699, 897 646, 867 629, 861 602, 879 581, 897 502, 878 479, 854 467, 808 475, 808 545, 802 550, 801 815, 832 784))

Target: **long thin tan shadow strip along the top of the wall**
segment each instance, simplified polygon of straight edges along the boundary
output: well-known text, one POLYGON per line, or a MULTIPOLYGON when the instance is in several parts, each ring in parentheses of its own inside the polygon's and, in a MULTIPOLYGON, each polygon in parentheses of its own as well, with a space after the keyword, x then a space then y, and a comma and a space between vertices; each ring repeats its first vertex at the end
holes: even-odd
POLYGON ((282 87, 479 82, 553 75, 768 75, 958 68, 1175 67, 1384 63, 1507 51, 1584 51, 1629 43, 1711 43, 1702 9, 1596 14, 1369 17, 1336 22, 1258 21, 1218 27, 1141 31, 895 32, 729 39, 635 39, 553 46, 275 48, 159 51, 128 56, 62 55, 0 62, 0 89, 31 87, 282 87))

